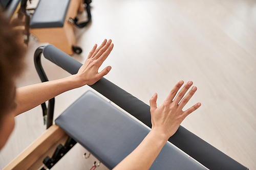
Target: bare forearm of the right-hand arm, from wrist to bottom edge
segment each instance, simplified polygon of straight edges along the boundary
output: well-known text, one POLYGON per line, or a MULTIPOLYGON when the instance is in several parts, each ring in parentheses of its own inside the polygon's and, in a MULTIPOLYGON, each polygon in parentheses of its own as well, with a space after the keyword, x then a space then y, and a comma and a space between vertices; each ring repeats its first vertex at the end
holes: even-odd
POLYGON ((152 130, 138 147, 124 158, 114 170, 119 169, 149 169, 162 150, 167 138, 152 130))

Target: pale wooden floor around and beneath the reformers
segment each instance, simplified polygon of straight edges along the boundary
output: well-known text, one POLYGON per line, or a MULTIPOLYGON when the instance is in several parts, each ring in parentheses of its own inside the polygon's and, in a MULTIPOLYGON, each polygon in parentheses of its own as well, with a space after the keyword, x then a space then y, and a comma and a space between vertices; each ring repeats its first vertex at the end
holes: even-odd
MULTIPOLYGON (((147 104, 154 92, 160 105, 176 82, 194 81, 198 91, 189 106, 202 106, 182 126, 256 169, 255 1, 98 0, 91 6, 90 26, 75 28, 77 45, 83 48, 73 56, 76 60, 84 62, 94 43, 111 38, 114 50, 102 68, 111 65, 112 70, 105 78, 147 104)), ((18 87, 40 82, 33 65, 39 45, 30 42, 18 87)), ((46 60, 43 64, 50 80, 69 76, 46 60)), ((88 89, 57 96, 55 117, 88 89)), ((15 130, 0 152, 0 168, 45 128, 40 107, 16 117, 15 130)), ((83 159, 84 152, 77 144, 53 169, 90 169, 96 160, 83 159)))

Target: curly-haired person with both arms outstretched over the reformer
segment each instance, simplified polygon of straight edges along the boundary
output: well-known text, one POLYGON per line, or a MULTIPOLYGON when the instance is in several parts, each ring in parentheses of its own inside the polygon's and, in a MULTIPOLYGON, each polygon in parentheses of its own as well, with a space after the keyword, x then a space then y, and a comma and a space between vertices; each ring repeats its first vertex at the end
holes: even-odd
MULTIPOLYGON (((87 60, 76 75, 55 81, 39 83, 15 88, 15 78, 23 68, 25 48, 17 31, 9 25, 9 21, 0 11, 0 150, 4 147, 14 128, 14 117, 24 113, 41 103, 54 98, 65 91, 92 85, 111 70, 111 66, 98 72, 103 61, 111 53, 114 44, 106 39, 97 48, 95 44, 87 60)), ((152 130, 139 146, 114 169, 149 169, 160 153, 168 138, 175 134, 183 119, 201 106, 197 103, 186 111, 182 111, 197 87, 193 82, 184 84, 179 81, 170 91, 164 103, 157 108, 157 93, 150 100, 152 130), (185 96, 184 96, 185 95, 185 96)))

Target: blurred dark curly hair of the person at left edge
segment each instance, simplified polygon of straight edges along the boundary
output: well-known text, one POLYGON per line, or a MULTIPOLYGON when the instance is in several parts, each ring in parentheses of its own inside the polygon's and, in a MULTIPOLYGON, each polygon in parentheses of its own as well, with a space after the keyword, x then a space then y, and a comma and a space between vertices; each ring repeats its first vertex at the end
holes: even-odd
POLYGON ((10 24, 0 9, 0 128, 3 116, 13 109, 15 78, 24 67, 26 47, 21 32, 14 28, 16 25, 17 22, 10 24))

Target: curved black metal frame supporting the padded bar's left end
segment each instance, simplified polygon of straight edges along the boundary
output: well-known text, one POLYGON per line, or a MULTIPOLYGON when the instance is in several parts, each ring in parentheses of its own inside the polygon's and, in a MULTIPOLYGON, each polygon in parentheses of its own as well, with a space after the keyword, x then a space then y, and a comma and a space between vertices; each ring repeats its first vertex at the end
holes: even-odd
MULTIPOLYGON (((41 82, 49 81, 41 64, 41 54, 44 48, 45 46, 40 46, 36 49, 34 53, 34 64, 41 82)), ((48 129, 53 124, 54 103, 55 103, 55 99, 52 98, 48 102, 48 108, 46 107, 46 103, 41 104, 42 114, 44 116, 44 123, 46 124, 46 129, 48 129)))

